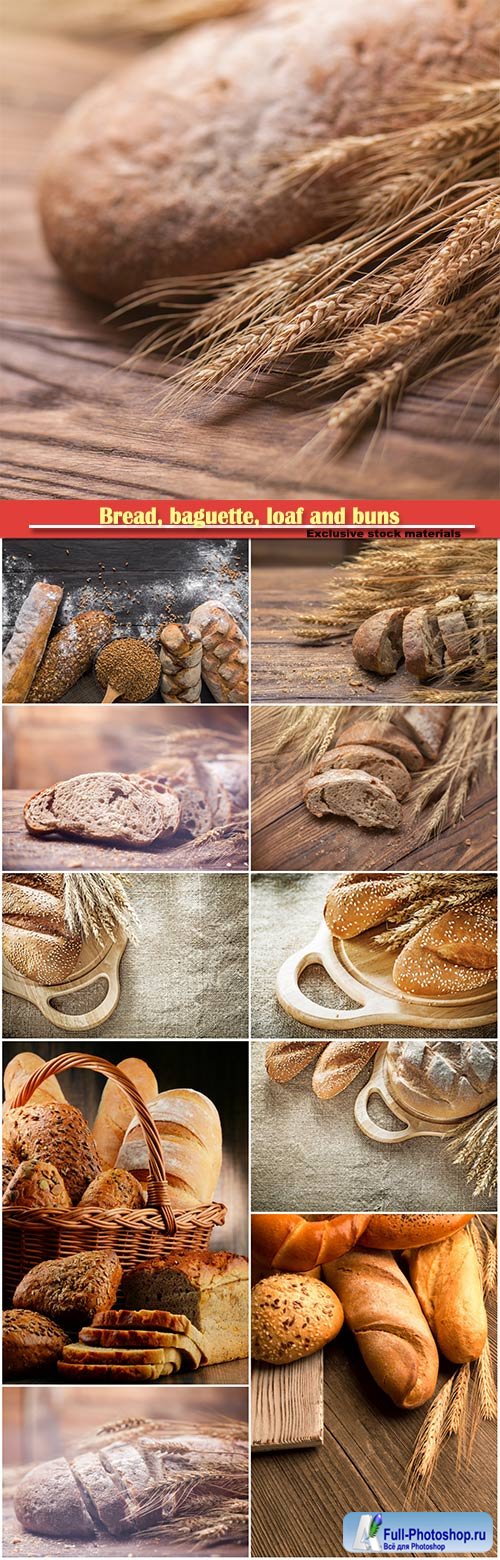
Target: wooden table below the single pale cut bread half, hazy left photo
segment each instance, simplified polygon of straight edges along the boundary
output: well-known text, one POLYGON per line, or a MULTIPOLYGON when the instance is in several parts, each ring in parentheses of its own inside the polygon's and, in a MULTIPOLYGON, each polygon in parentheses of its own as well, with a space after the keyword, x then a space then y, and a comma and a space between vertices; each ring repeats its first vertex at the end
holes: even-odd
POLYGON ((5 872, 241 872, 248 866, 248 838, 234 830, 223 838, 156 841, 151 849, 98 844, 30 835, 23 822, 23 791, 3 792, 5 872))

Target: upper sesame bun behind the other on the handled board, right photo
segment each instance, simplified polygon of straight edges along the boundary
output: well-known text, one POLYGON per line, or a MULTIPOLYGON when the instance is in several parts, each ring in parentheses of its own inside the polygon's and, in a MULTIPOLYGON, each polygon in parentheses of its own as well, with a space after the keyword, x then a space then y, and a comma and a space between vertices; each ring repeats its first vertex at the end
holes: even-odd
POLYGON ((357 938, 371 927, 380 927, 394 909, 399 909, 407 892, 403 872, 386 872, 374 877, 352 874, 349 881, 340 880, 330 888, 324 919, 333 938, 357 938))

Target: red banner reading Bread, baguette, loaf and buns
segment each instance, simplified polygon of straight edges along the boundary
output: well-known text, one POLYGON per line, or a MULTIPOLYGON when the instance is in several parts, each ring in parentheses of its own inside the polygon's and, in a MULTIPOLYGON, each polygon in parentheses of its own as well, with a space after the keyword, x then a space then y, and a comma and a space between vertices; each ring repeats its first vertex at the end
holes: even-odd
POLYGON ((3 537, 72 537, 115 535, 126 530, 134 535, 157 537, 173 532, 181 537, 206 532, 220 537, 277 535, 285 532, 302 537, 347 537, 350 540, 374 535, 411 537, 500 537, 500 504, 474 499, 455 501, 391 501, 354 502, 332 499, 291 504, 290 499, 263 499, 235 504, 232 499, 213 504, 210 499, 165 498, 143 507, 137 501, 117 499, 106 504, 83 502, 11 502, 0 504, 0 529, 3 537))

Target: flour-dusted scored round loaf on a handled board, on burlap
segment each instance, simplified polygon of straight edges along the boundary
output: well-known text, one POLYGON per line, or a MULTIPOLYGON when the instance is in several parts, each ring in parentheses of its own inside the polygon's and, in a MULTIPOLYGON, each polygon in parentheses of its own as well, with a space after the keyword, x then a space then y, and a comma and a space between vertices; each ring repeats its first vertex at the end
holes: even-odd
POLYGON ((385 1065, 394 1100, 414 1115, 461 1120, 497 1097, 497 1042, 389 1041, 385 1065))

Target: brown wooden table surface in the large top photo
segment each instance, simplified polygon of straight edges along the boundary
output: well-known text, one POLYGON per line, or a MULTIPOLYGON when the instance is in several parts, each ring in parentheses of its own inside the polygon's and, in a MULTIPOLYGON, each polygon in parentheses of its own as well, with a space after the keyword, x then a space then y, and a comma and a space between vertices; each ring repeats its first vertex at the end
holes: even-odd
POLYGON ((65 109, 136 53, 117 39, 3 36, 3 498, 299 499, 307 488, 360 499, 360 487, 374 501, 389 487, 400 498, 494 498, 492 384, 480 370, 466 385, 452 370, 421 385, 377 441, 369 434, 321 468, 304 454, 321 426, 304 398, 248 392, 223 412, 167 415, 157 362, 123 371, 134 339, 58 275, 36 179, 65 109))

